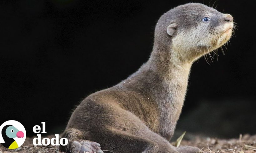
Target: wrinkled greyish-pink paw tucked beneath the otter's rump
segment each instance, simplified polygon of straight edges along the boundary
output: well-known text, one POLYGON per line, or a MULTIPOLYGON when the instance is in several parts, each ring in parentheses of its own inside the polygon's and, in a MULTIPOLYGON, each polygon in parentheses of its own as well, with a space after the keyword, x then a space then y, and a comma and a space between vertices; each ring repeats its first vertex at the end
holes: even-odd
POLYGON ((72 153, 103 153, 100 144, 92 141, 73 141, 71 148, 72 153))

